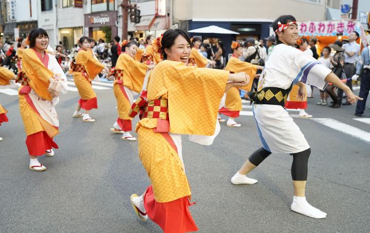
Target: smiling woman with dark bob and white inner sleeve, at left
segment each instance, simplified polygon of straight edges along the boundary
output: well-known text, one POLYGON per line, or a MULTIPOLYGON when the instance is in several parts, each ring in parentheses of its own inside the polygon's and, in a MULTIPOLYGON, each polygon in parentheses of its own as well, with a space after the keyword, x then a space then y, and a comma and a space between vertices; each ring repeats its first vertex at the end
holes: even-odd
POLYGON ((55 105, 60 92, 67 93, 67 79, 54 56, 45 50, 49 37, 42 28, 33 29, 27 37, 30 48, 23 51, 22 73, 18 76, 19 105, 30 155, 29 168, 44 171, 38 156, 54 156, 58 145, 53 137, 59 133, 59 120, 55 105))

